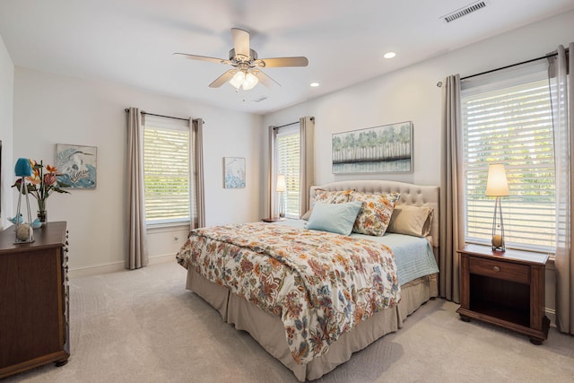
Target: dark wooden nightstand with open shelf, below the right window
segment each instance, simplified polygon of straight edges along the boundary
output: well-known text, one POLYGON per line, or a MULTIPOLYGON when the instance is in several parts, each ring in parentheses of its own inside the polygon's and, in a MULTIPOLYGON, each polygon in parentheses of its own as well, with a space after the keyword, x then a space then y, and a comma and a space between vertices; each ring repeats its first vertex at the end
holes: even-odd
POLYGON ((548 256, 518 250, 496 251, 467 245, 459 250, 460 308, 471 318, 528 335, 533 344, 548 338, 544 315, 544 273, 548 256))

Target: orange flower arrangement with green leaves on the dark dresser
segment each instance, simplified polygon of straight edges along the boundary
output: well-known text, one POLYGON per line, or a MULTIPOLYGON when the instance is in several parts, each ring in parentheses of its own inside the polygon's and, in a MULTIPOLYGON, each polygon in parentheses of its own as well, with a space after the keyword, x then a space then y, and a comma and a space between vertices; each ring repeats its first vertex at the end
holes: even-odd
MULTIPOLYGON (((30 177, 26 177, 26 180, 30 183, 24 183, 26 184, 27 192, 36 198, 36 201, 38 201, 39 214, 40 212, 43 212, 45 215, 46 200, 48 199, 48 196, 51 196, 54 192, 67 194, 70 192, 62 188, 68 186, 57 179, 59 172, 54 166, 44 166, 43 161, 39 161, 39 163, 35 160, 29 161, 32 168, 32 175, 30 177)), ((23 194, 22 178, 16 180, 12 187, 17 187, 23 194)), ((43 221, 41 217, 39 218, 40 221, 43 221)))

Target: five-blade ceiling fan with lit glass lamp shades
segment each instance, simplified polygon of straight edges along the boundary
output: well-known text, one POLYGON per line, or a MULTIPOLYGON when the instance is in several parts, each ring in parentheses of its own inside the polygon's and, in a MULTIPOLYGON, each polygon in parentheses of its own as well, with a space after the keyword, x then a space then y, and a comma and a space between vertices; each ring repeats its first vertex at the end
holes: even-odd
POLYGON ((233 39, 233 48, 230 50, 229 59, 189 55, 187 53, 178 52, 174 53, 174 55, 190 60, 208 61, 233 66, 233 69, 217 77, 209 86, 211 88, 219 88, 223 83, 229 81, 237 91, 239 91, 240 87, 243 87, 244 91, 248 91, 256 86, 259 81, 267 87, 271 87, 274 84, 279 85, 274 79, 263 73, 260 68, 307 66, 309 64, 307 57, 258 58, 257 52, 249 48, 249 32, 247 30, 231 28, 231 37, 233 39))

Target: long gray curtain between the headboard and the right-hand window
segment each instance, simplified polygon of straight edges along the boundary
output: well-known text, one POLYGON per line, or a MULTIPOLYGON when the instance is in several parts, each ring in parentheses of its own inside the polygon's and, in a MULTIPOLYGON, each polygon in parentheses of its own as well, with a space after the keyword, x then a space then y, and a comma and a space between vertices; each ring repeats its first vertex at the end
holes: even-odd
POLYGON ((440 170, 440 295, 460 301, 460 256, 457 250, 465 245, 462 214, 463 177, 459 164, 462 152, 462 118, 460 108, 460 76, 448 76, 442 85, 440 170))

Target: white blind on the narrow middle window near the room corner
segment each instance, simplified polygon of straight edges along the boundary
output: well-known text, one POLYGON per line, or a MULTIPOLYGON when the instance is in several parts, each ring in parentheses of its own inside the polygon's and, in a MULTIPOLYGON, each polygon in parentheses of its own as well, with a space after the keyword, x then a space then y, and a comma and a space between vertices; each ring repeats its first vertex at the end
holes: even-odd
POLYGON ((285 216, 300 217, 300 127, 280 127, 276 139, 276 174, 285 175, 285 216))

